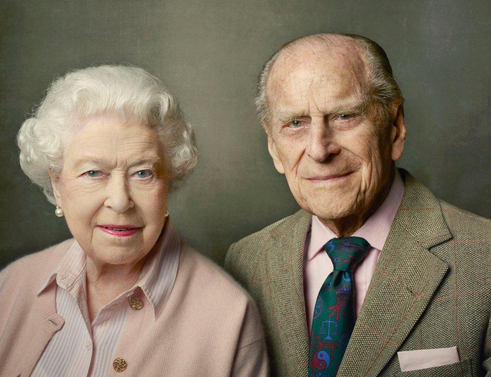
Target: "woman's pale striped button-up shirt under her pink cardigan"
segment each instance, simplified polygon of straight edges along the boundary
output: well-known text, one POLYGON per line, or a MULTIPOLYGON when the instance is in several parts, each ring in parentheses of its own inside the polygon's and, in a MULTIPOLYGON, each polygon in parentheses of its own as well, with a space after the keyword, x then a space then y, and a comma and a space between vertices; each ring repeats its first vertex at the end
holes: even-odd
POLYGON ((44 349, 32 376, 100 376, 112 369, 123 331, 138 328, 141 321, 152 322, 174 286, 181 242, 169 218, 154 247, 158 251, 145 262, 136 284, 104 306, 90 323, 86 254, 73 241, 38 291, 39 295, 56 279, 56 311, 65 324, 44 349), (131 309, 130 299, 138 299, 142 308, 131 309))

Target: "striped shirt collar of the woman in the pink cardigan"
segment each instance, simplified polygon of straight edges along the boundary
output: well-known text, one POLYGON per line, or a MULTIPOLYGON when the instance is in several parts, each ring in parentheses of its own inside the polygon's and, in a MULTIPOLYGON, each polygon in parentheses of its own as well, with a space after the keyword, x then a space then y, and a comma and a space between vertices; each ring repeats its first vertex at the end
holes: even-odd
MULTIPOLYGON (((167 300, 174 287, 180 252, 181 239, 171 223, 170 217, 167 217, 166 224, 153 249, 149 252, 150 257, 145 261, 138 281, 118 298, 131 296, 139 287, 150 302, 155 317, 158 306, 167 300)), ((85 273, 85 267, 86 254, 78 242, 74 240, 37 294, 43 292, 54 280, 56 280, 58 287, 68 289, 81 273, 85 273)))

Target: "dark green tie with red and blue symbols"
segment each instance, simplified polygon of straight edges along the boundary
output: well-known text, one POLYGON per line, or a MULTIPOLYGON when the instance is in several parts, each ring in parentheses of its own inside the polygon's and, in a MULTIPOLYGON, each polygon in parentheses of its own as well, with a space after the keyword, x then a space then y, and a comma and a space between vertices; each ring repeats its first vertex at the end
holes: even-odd
POLYGON ((315 302, 310 335, 309 377, 335 377, 355 326, 353 270, 370 244, 361 237, 333 238, 323 247, 334 271, 315 302))

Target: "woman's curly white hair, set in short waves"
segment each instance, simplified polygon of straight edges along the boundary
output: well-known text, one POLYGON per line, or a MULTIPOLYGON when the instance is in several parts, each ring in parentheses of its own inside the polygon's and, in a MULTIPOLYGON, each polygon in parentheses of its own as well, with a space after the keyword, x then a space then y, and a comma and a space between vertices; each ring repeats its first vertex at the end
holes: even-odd
POLYGON ((77 69, 53 81, 17 136, 22 170, 41 186, 50 203, 56 204, 49 169, 60 174, 65 142, 85 121, 106 116, 145 125, 156 133, 172 187, 196 165, 192 127, 159 79, 131 66, 77 69))

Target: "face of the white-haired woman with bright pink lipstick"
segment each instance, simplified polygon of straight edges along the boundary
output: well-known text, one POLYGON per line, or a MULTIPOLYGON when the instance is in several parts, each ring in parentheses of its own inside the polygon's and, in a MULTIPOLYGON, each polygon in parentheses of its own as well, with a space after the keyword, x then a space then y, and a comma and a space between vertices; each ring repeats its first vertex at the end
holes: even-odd
POLYGON ((88 121, 65 145, 57 205, 96 264, 131 265, 155 244, 165 222, 168 174, 156 134, 112 118, 88 121))

